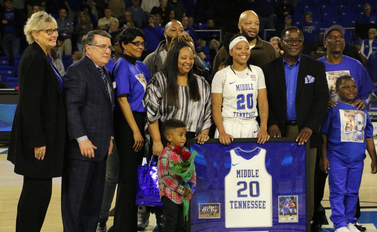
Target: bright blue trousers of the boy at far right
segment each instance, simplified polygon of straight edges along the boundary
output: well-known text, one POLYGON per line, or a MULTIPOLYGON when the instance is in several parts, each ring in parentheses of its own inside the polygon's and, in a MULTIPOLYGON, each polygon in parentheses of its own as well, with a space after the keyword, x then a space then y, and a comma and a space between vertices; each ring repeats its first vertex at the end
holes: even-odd
POLYGON ((359 196, 364 161, 347 163, 334 155, 327 157, 330 170, 330 220, 334 229, 356 223, 356 203, 359 196))

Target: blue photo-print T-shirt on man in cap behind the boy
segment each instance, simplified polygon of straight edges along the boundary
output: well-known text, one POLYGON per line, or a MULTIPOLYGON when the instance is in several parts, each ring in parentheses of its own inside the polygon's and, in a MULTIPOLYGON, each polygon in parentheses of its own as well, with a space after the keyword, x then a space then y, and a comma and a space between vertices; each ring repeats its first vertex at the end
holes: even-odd
POLYGON ((335 82, 337 77, 342 75, 350 75, 355 79, 357 87, 356 99, 361 99, 366 103, 369 103, 371 92, 375 91, 375 87, 368 72, 364 66, 349 56, 343 55, 343 61, 339 64, 330 64, 326 61, 326 57, 323 56, 318 59, 325 64, 327 83, 329 86, 330 100, 338 101, 339 96, 335 92, 335 82))

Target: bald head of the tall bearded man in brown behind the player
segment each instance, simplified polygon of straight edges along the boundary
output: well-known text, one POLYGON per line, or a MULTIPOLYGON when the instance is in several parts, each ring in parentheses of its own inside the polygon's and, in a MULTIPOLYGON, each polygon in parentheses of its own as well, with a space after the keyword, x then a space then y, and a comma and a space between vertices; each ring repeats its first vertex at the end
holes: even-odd
POLYGON ((239 16, 238 29, 240 33, 247 37, 249 42, 256 39, 259 33, 258 15, 250 10, 242 12, 239 16))

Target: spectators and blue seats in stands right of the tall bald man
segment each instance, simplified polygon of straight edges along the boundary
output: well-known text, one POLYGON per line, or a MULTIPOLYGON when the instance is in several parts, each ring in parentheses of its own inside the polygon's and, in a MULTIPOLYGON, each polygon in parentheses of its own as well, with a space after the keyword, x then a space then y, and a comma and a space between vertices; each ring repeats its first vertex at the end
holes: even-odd
POLYGON ((327 55, 327 48, 323 45, 323 32, 326 28, 334 24, 350 27, 344 36, 343 54, 360 61, 372 80, 377 82, 377 5, 371 5, 368 1, 353 3, 346 0, 342 5, 331 5, 331 1, 326 3, 325 0, 249 2, 250 9, 259 17, 259 36, 270 41, 280 55, 284 53, 280 45, 280 34, 290 26, 297 26, 302 30, 305 38, 302 53, 314 59, 327 55), (316 5, 316 2, 322 4, 316 5))

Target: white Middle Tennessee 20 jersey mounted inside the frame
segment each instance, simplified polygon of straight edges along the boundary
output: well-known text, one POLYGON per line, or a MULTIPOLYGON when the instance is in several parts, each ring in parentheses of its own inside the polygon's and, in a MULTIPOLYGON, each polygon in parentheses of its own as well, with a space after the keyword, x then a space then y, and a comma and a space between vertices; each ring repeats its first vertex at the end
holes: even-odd
POLYGON ((225 176, 225 227, 272 226, 272 177, 265 166, 266 150, 230 150, 231 166, 225 176), (242 154, 253 155, 244 159, 242 154))

